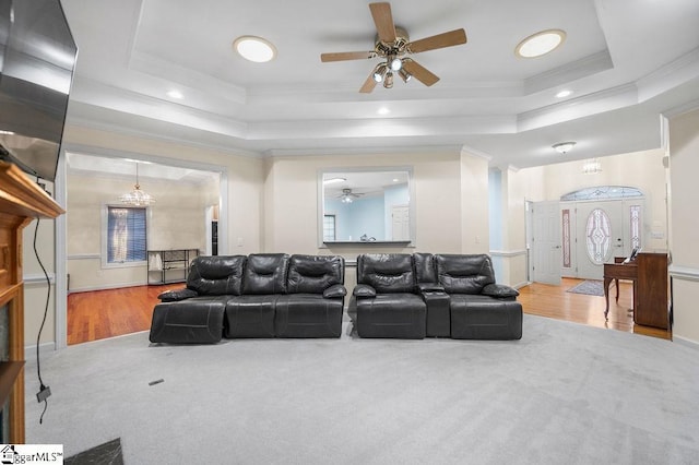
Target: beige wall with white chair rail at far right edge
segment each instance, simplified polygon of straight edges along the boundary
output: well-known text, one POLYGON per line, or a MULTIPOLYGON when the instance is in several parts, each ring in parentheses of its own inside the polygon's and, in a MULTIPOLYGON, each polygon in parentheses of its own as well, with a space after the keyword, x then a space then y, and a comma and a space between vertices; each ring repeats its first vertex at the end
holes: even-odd
POLYGON ((670 120, 673 338, 699 344, 699 109, 670 120))

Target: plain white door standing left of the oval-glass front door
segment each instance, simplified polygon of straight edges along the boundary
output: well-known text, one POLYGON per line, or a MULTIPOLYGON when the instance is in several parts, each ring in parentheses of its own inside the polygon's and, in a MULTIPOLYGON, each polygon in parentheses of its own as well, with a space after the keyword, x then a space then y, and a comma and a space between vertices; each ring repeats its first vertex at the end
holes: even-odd
POLYGON ((561 227, 558 201, 533 204, 533 281, 560 285, 561 227))

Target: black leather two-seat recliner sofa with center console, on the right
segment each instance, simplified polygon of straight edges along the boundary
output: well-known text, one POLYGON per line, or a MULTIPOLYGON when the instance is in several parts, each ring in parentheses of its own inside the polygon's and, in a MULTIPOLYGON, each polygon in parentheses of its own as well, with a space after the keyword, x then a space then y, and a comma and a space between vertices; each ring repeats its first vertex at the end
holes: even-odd
POLYGON ((360 337, 519 339, 518 295, 486 254, 364 254, 348 313, 360 337))

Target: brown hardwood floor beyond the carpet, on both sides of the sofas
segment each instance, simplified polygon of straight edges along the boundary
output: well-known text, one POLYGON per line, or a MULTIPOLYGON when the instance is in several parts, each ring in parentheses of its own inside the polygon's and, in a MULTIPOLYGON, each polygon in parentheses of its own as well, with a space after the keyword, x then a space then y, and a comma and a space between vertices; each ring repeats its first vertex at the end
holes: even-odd
MULTIPOLYGON (((561 286, 534 283, 521 288, 518 299, 522 302, 525 313, 671 338, 668 331, 633 324, 633 317, 628 311, 631 308, 630 283, 620 284, 618 303, 613 297, 609 299, 609 321, 605 321, 604 297, 567 291, 581 282, 582 279, 564 278, 561 286)), ((138 286, 70 294, 68 296, 68 344, 147 331, 151 327, 153 307, 158 302, 158 294, 183 286, 183 284, 138 286)), ((614 295, 614 287, 611 291, 614 295)))

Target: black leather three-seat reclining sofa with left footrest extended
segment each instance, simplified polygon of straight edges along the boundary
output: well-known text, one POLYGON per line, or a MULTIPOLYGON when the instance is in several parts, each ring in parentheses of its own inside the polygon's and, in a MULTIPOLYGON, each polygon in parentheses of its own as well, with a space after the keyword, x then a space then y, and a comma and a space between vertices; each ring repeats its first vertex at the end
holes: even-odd
POLYGON ((236 337, 340 337, 346 289, 342 257, 260 253, 198 257, 187 287, 163 293, 153 343, 236 337))

